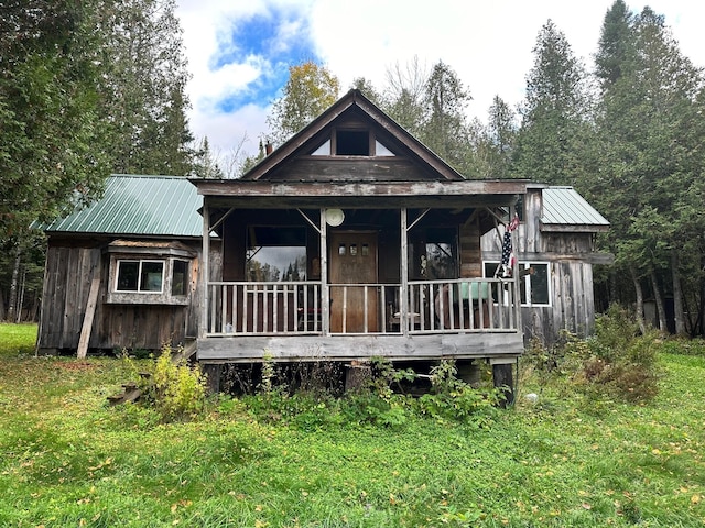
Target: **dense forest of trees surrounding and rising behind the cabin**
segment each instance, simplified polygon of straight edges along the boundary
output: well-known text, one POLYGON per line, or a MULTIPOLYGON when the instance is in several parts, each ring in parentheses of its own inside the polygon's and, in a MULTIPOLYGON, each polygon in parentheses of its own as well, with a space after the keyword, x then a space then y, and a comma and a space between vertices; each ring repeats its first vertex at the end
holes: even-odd
MULTIPOLYGON (((0 9, 0 319, 19 320, 36 317, 41 294, 32 222, 99 196, 110 173, 237 177, 258 157, 224 172, 207 139, 189 133, 173 0, 0 9)), ((551 20, 532 52, 523 101, 497 96, 481 120, 467 116, 471 86, 443 61, 395 64, 386 86, 355 87, 468 178, 574 186, 611 222, 597 241, 616 256, 596 275, 598 308, 641 315, 651 301, 661 329, 704 334, 702 68, 663 16, 622 0, 605 14, 594 68, 551 20)), ((285 141, 340 90, 325 66, 292 65, 263 141, 285 141)))

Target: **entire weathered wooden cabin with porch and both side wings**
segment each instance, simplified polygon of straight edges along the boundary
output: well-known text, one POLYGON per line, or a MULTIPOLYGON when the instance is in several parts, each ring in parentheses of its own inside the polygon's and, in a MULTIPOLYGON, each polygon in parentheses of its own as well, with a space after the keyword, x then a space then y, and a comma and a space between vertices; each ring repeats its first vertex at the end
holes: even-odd
POLYGON ((562 218, 582 198, 556 191, 468 180, 351 90, 239 179, 115 175, 48 226, 37 346, 193 338, 215 388, 223 365, 265 356, 484 361, 511 386, 525 333, 592 328, 606 221, 562 218))

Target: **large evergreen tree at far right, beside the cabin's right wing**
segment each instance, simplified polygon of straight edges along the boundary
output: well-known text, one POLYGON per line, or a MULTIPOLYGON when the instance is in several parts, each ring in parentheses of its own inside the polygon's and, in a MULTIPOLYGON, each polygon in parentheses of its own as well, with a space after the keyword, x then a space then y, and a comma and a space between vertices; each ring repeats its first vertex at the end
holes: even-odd
MULTIPOLYGON (((663 297, 671 293, 682 333, 688 302, 682 277, 691 282, 687 290, 702 290, 701 262, 693 252, 698 250, 695 233, 705 228, 696 206, 698 200, 702 205, 699 175, 705 169, 703 75, 680 52, 663 16, 649 8, 622 35, 628 35, 622 58, 611 63, 619 76, 605 77, 609 81, 599 106, 603 165, 592 197, 612 222, 608 242, 616 271, 631 277, 637 299, 644 292, 653 296, 663 330, 663 297)), ((699 304, 698 297, 690 299, 691 306, 699 304)), ((641 316, 640 306, 637 312, 641 316)))

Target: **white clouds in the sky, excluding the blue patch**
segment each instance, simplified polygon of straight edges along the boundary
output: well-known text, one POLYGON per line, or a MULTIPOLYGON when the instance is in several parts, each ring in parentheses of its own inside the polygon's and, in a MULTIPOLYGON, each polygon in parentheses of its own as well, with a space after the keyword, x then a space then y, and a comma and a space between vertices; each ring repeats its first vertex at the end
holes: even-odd
MULTIPOLYGON (((268 67, 250 61, 209 68, 220 45, 218 35, 227 33, 238 16, 273 8, 296 8, 305 13, 315 50, 340 78, 344 90, 356 77, 382 88, 388 68, 409 64, 414 56, 429 68, 442 59, 470 90, 470 113, 485 119, 495 95, 510 105, 521 101, 533 64, 532 48, 549 19, 589 66, 612 0, 177 0, 177 4, 193 73, 187 88, 193 105, 192 131, 196 136, 207 135, 221 152, 228 152, 247 134, 250 141, 246 148, 256 152, 259 136, 267 130, 268 108, 248 106, 224 114, 214 105, 226 95, 246 89, 268 67)), ((627 4, 633 11, 643 8, 643 3, 627 4)), ((682 52, 695 64, 705 64, 701 44, 705 4, 692 0, 653 0, 648 4, 665 15, 682 52)), ((281 45, 299 33, 299 23, 292 21, 281 29, 281 45)))

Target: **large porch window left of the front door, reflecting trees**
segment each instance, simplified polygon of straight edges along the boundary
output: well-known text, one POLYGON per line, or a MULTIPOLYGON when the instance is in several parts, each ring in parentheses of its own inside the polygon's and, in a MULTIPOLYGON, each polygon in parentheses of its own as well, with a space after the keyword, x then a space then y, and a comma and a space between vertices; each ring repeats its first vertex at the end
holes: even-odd
POLYGON ((248 230, 246 273, 252 282, 306 279, 306 230, 254 226, 248 230))

